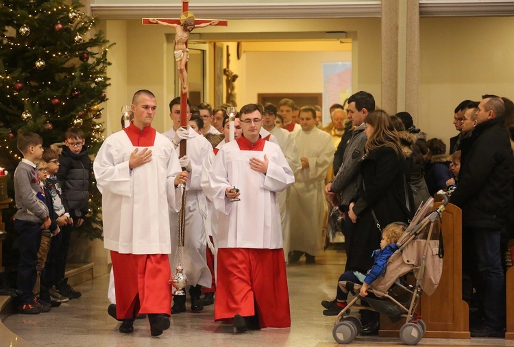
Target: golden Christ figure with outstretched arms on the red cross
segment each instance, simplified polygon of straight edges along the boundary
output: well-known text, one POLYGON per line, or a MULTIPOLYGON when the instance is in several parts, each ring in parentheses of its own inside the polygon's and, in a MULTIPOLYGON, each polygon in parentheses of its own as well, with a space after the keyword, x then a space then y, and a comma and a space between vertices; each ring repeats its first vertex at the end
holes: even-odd
POLYGON ((209 25, 217 25, 219 21, 210 21, 207 23, 195 24, 195 16, 191 12, 184 12, 180 16, 180 24, 167 23, 159 21, 156 18, 150 18, 151 23, 173 27, 175 29, 175 62, 177 62, 178 76, 182 83, 182 94, 188 90, 186 64, 189 60, 189 50, 187 49, 187 40, 189 33, 195 28, 208 27, 209 25))

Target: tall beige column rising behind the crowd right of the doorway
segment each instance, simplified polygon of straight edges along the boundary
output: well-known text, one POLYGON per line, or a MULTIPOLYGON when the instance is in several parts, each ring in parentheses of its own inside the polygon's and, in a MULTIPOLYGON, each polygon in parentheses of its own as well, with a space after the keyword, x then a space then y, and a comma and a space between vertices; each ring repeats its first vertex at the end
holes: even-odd
POLYGON ((382 105, 389 114, 407 111, 417 120, 419 1, 382 1, 382 105))

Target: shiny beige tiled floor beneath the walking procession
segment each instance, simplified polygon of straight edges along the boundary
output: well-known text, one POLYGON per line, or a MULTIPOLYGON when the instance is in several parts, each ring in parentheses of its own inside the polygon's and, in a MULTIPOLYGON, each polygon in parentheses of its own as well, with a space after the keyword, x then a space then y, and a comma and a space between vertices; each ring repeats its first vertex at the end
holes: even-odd
MULTIPOLYGON (((82 298, 64 303, 38 316, 13 314, 0 324, 3 346, 336 346, 334 318, 325 317, 320 301, 332 298, 343 269, 344 255, 328 250, 317 264, 301 260, 288 266, 291 328, 265 329, 234 335, 232 327, 214 322, 212 306, 202 313, 180 313, 171 318, 171 329, 150 337, 147 320, 137 320, 134 333, 121 334, 119 324, 107 314, 108 276, 78 285, 82 298), (10 333, 12 331, 12 333, 10 333), (16 337, 18 336, 18 337, 16 337), (23 341, 22 341, 23 340, 23 341)), ((398 346, 400 339, 357 337, 360 346, 398 346)), ((422 339, 423 346, 514 346, 505 339, 422 339)))

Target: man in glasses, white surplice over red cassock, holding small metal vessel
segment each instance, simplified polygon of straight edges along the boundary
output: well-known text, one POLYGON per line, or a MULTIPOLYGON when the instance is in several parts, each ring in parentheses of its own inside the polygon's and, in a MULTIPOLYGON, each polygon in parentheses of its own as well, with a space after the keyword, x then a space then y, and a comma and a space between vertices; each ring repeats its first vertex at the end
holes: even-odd
POLYGON ((295 179, 280 147, 259 135, 262 107, 243 106, 240 123, 243 136, 221 146, 204 187, 219 211, 215 320, 232 321, 236 331, 288 327, 277 192, 295 179))

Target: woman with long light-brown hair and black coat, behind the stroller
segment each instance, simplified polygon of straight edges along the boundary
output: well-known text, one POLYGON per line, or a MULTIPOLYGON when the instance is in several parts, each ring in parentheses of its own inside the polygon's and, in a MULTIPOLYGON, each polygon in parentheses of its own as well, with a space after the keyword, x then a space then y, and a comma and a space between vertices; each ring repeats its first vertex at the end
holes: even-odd
MULTIPOLYGON (((366 123, 365 155, 360 164, 363 185, 348 216, 357 223, 352 238, 347 270, 365 273, 373 266, 371 253, 380 246, 382 227, 392 222, 408 222, 412 217, 406 198, 411 194, 405 181, 404 153, 388 114, 382 110, 369 113, 366 123)), ((369 311, 364 311, 369 313, 369 311)), ((363 317, 365 335, 378 333, 378 315, 363 317)))

